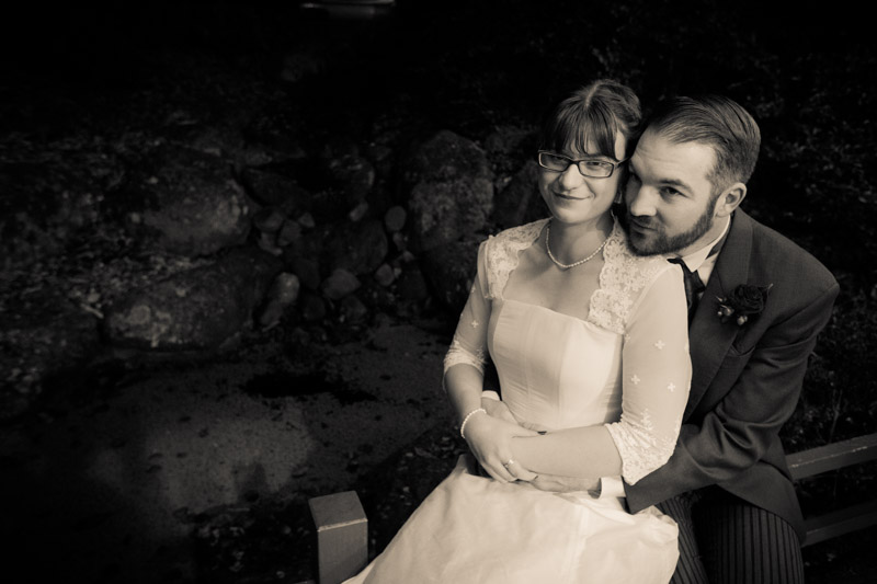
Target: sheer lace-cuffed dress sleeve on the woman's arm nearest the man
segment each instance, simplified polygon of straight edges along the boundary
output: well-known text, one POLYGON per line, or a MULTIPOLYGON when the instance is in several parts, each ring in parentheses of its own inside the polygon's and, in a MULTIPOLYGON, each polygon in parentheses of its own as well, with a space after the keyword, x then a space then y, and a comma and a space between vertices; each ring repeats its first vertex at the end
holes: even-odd
POLYGON ((682 274, 672 266, 633 307, 622 354, 622 419, 606 425, 630 484, 675 448, 692 378, 687 322, 682 274))

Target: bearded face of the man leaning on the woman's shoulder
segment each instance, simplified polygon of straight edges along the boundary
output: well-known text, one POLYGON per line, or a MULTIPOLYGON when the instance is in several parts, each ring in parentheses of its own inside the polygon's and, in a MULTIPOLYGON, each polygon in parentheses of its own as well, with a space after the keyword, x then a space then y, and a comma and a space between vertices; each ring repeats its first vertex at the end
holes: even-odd
POLYGON ((631 157, 625 190, 627 234, 640 255, 698 250, 715 238, 716 196, 708 175, 713 147, 673 144, 646 130, 631 157))

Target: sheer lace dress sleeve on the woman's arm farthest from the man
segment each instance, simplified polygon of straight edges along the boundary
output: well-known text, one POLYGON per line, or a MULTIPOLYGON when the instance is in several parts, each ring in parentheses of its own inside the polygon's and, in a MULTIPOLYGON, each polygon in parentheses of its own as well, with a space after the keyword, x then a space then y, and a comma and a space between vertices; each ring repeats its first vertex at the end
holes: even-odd
POLYGON ((465 363, 485 373, 485 355, 487 351, 487 323, 490 319, 490 300, 486 298, 487 268, 486 255, 488 241, 478 248, 478 277, 469 291, 469 299, 459 316, 454 340, 447 350, 444 370, 454 365, 465 363))

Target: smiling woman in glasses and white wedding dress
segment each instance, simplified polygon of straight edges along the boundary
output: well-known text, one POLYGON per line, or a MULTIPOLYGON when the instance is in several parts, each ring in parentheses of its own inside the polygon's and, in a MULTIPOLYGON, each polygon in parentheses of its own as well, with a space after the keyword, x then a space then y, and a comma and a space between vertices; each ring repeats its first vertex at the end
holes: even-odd
POLYGON ((691 381, 679 266, 627 248, 611 214, 641 119, 599 80, 543 131, 551 216, 489 238, 445 357, 465 457, 353 583, 665 583, 676 526, 553 478, 635 483, 673 451, 691 381), (486 355, 520 424, 481 408, 486 355), (611 480, 611 479, 610 479, 611 480))

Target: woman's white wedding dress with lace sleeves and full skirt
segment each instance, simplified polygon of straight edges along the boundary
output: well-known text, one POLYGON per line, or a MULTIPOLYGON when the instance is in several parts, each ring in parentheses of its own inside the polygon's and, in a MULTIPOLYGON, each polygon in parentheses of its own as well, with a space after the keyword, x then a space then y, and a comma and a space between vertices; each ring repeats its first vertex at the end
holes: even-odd
MULTIPOLYGON (((489 350, 519 420, 556 430, 605 424, 634 483, 672 454, 687 399, 681 272, 662 257, 633 255, 616 224, 586 320, 505 298, 519 253, 545 224, 481 244, 445 369, 466 363, 483 370, 489 350)), ((348 582, 669 582, 677 529, 654 507, 631 515, 623 499, 539 491, 471 467, 460 457, 384 553, 348 582)))

